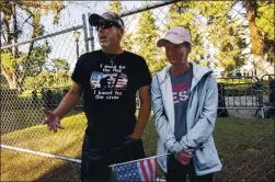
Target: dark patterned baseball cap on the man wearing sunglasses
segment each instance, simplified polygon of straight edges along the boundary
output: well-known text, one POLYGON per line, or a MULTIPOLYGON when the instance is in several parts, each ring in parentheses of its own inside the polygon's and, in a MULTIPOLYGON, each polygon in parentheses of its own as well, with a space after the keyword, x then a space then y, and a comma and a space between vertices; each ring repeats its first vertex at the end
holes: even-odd
POLYGON ((124 27, 123 20, 118 16, 117 13, 114 13, 114 12, 104 12, 102 15, 93 13, 89 18, 89 23, 91 24, 91 26, 98 26, 99 25, 99 21, 101 19, 103 19, 104 21, 107 21, 107 22, 115 23, 119 27, 124 27))

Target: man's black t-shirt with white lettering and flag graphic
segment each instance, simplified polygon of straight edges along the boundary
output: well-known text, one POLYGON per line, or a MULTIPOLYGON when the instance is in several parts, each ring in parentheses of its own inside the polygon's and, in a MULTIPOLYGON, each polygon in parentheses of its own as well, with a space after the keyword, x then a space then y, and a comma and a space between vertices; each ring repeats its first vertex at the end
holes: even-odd
POLYGON ((71 76, 83 88, 87 135, 96 147, 112 147, 130 135, 136 125, 136 92, 151 83, 145 59, 124 50, 82 55, 71 76))

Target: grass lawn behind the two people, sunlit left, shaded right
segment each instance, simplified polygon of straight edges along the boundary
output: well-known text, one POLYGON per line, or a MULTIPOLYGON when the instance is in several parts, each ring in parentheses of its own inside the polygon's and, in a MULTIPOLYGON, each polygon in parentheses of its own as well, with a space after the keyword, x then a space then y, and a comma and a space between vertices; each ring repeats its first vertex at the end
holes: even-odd
MULTIPOLYGON (((53 133, 45 125, 1 136, 1 144, 71 158, 81 155, 84 114, 62 121, 66 129, 53 133)), ((274 121, 218 118, 214 133, 224 169, 215 181, 270 180, 274 174, 274 121)), ((144 135, 147 156, 154 156, 158 134, 153 117, 144 135)), ((1 148, 1 181, 78 181, 79 164, 1 148)))

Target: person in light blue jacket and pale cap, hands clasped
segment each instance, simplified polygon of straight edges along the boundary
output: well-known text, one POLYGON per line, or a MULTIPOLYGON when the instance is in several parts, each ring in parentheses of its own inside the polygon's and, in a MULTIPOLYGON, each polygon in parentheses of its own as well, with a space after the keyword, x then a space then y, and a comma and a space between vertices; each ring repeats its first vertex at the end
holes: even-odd
POLYGON ((172 27, 158 47, 165 48, 171 65, 152 79, 152 106, 160 139, 158 153, 168 181, 213 181, 221 170, 213 132, 217 117, 218 91, 213 71, 188 61, 191 34, 172 27))

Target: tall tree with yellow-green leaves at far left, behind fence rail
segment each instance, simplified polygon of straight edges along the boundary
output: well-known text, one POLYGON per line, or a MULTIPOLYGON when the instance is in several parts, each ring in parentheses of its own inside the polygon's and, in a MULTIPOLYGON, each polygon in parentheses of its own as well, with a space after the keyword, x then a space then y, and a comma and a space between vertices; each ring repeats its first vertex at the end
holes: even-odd
MULTIPOLYGON (((60 11, 64 9, 61 1, 0 1, 3 13, 2 45, 18 43, 21 37, 34 38, 44 34, 41 18, 54 12, 54 23, 58 23, 60 11), (24 33, 24 23, 31 24, 31 33, 24 33)), ((36 77, 43 69, 50 48, 48 43, 30 43, 28 48, 20 50, 19 47, 3 49, 1 54, 1 72, 9 83, 10 89, 22 90, 26 77, 36 77)))

